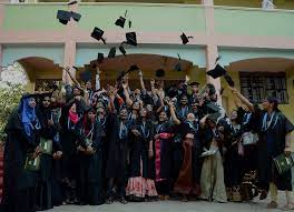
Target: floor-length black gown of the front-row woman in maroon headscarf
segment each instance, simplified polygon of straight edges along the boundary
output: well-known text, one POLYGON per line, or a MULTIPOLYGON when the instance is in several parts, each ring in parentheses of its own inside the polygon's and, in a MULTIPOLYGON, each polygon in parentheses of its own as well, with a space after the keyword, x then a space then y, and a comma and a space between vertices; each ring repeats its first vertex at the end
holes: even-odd
MULTIPOLYGON (((89 135, 90 137, 90 135, 89 135)), ((81 130, 80 143, 86 143, 86 139, 90 139, 81 130)), ((87 155, 84 152, 78 153, 79 180, 78 194, 82 203, 98 205, 104 203, 102 190, 102 169, 104 169, 104 143, 102 143, 102 125, 99 121, 95 121, 92 129, 92 143, 95 153, 87 155)), ((86 147, 85 147, 86 148, 86 147)))

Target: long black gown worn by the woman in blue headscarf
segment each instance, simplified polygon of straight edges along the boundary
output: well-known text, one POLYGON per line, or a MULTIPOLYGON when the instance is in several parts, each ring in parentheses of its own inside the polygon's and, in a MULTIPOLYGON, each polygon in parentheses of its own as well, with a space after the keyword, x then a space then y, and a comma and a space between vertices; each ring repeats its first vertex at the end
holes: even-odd
POLYGON ((37 131, 28 137, 18 111, 13 111, 6 127, 3 200, 1 210, 6 212, 33 212, 37 173, 24 170, 27 153, 32 153, 39 144, 37 131))

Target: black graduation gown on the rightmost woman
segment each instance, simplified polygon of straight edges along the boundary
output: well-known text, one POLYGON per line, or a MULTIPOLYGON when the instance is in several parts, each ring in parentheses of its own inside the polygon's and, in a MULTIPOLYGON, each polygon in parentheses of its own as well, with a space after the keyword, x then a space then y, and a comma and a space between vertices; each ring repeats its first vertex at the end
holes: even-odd
MULTIPOLYGON (((259 141, 258 148, 258 183, 259 188, 268 190, 270 182, 274 182, 278 190, 292 191, 291 170, 278 174, 273 159, 284 153, 285 135, 294 130, 293 124, 282 113, 275 112, 273 121, 267 129, 263 129, 265 112, 259 112, 259 141)), ((267 120, 268 121, 268 120, 267 120)))

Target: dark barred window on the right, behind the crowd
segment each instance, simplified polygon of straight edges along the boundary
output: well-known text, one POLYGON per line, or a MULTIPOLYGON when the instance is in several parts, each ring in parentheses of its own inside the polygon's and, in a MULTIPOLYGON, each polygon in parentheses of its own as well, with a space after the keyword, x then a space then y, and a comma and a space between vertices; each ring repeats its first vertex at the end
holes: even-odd
POLYGON ((281 103, 288 103, 286 75, 284 72, 241 72, 241 92, 254 103, 267 95, 275 95, 281 103))

